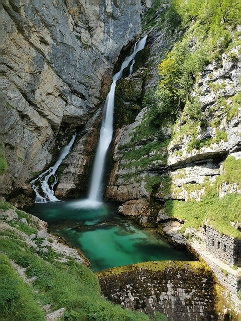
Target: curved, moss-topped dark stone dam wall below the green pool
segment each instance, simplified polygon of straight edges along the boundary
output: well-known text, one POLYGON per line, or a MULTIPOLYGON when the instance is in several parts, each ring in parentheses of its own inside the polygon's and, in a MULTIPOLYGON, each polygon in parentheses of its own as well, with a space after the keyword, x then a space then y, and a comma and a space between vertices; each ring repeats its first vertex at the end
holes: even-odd
POLYGON ((154 261, 97 273, 102 294, 123 307, 174 321, 217 320, 212 273, 204 263, 154 261))

